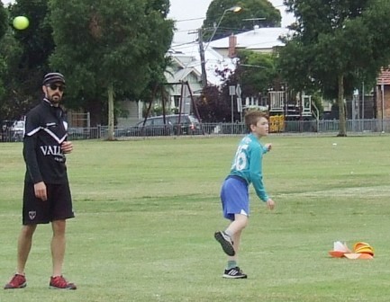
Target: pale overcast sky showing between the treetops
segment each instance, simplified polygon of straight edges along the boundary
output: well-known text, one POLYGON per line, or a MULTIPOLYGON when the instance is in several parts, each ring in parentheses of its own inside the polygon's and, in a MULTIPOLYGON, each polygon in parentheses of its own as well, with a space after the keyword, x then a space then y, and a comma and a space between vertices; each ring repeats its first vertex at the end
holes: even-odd
MULTIPOLYGON (((13 2, 13 0, 1 0, 4 4, 13 2)), ((196 40, 194 33, 204 22, 207 8, 213 0, 170 0, 170 11, 168 17, 176 20, 177 32, 175 42, 184 43, 196 40)), ((268 0, 273 4, 282 15, 282 27, 294 22, 294 16, 286 13, 286 7, 283 6, 283 0, 268 0)), ((259 16, 261 17, 261 16, 259 16)))

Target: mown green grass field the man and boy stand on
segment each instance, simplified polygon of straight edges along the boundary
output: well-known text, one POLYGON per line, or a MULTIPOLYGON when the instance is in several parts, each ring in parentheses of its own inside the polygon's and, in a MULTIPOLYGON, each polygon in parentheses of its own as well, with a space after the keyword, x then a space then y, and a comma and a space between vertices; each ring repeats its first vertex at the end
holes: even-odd
MULTIPOLYGON (((224 280, 226 258, 213 232, 219 191, 237 138, 75 141, 68 173, 77 218, 68 222, 64 274, 76 291, 48 289, 50 226, 38 228, 26 289, 2 302, 53 301, 388 301, 389 137, 270 136, 268 211, 252 188, 240 267, 224 280), (332 259, 336 240, 365 241, 374 260, 332 259)), ((21 226, 22 144, 0 144, 0 277, 16 266, 21 226)), ((2 284, 3 285, 3 284, 2 284)))

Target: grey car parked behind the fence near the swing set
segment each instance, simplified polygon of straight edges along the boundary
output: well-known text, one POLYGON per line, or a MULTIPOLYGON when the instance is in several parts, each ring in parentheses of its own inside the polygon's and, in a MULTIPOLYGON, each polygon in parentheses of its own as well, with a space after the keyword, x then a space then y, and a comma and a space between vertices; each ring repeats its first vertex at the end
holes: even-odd
POLYGON ((129 137, 203 134, 199 120, 190 114, 150 117, 127 130, 129 137))

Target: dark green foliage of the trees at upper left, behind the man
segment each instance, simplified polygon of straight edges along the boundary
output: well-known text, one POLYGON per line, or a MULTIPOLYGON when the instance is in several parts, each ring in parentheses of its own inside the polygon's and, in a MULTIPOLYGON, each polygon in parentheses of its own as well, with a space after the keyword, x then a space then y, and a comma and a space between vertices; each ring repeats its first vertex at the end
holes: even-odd
POLYGON ((98 123, 108 85, 117 98, 138 99, 146 87, 163 82, 173 36, 168 0, 19 0, 8 11, 9 19, 0 9, 0 33, 4 24, 8 32, 0 48, 2 118, 16 118, 38 102, 41 78, 50 70, 67 78, 66 107, 90 111, 98 123), (29 18, 26 30, 9 26, 16 15, 29 18))

